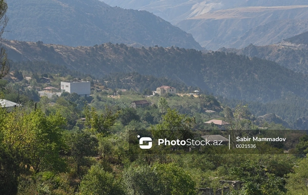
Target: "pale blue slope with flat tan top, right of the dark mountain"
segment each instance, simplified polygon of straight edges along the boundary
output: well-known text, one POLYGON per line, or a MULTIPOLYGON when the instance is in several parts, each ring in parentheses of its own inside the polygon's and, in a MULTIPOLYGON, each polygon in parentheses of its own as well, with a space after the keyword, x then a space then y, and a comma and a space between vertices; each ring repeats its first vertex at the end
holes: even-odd
POLYGON ((208 12, 185 19, 178 27, 201 46, 242 48, 266 45, 308 30, 308 6, 243 7, 208 12))

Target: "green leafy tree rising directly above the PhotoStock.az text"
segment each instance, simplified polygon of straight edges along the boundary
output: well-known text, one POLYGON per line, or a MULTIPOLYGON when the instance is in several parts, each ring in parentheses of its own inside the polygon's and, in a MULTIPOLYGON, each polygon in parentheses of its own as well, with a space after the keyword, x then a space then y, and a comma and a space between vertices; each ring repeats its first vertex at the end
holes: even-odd
POLYGON ((167 109, 160 124, 152 126, 152 134, 157 139, 186 140, 193 138, 191 129, 196 124, 195 118, 179 114, 178 111, 167 109))

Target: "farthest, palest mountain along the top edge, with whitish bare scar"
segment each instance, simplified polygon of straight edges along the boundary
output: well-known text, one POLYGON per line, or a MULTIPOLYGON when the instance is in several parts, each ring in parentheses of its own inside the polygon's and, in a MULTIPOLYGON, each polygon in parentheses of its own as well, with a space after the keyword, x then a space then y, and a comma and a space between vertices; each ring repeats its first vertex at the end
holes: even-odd
POLYGON ((146 10, 160 16, 172 24, 184 19, 195 17, 210 11, 232 9, 249 6, 292 6, 308 5, 305 0, 102 0, 110 6, 119 6, 126 9, 146 10))

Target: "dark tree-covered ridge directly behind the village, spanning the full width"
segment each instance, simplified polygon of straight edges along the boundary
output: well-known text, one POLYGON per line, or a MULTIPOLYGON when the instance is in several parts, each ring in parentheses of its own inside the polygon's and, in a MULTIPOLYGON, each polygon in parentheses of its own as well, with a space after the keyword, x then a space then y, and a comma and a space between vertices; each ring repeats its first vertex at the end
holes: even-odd
POLYGON ((15 61, 49 61, 71 70, 102 77, 131 72, 168 77, 230 99, 268 102, 287 93, 308 97, 308 79, 278 64, 234 53, 202 53, 194 49, 124 44, 68 47, 42 42, 2 41, 15 61))

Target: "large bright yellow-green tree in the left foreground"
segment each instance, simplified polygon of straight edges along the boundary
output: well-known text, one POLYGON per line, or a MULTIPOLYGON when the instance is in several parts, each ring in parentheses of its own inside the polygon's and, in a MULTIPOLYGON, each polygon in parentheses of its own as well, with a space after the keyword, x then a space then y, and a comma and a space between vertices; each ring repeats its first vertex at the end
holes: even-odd
POLYGON ((8 113, 0 126, 3 143, 23 155, 24 164, 37 173, 40 170, 63 170, 59 156, 64 118, 59 114, 46 116, 40 109, 27 113, 16 109, 8 113))

